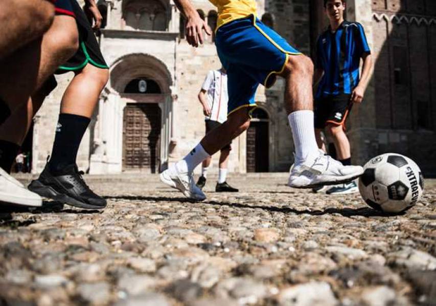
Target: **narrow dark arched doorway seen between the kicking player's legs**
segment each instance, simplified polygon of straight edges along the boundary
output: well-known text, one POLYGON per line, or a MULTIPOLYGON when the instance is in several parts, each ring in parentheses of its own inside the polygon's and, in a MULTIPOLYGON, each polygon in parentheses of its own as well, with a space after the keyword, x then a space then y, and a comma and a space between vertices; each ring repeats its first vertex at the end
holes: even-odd
POLYGON ((262 108, 251 114, 247 130, 247 172, 269 171, 269 117, 262 108))

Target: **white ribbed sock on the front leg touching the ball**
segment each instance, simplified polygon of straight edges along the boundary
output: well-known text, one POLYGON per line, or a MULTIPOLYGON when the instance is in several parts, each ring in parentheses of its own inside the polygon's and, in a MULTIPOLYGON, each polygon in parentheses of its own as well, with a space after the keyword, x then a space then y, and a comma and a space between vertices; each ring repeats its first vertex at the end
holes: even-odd
POLYGON ((295 164, 318 155, 312 111, 296 111, 288 116, 295 145, 295 164))

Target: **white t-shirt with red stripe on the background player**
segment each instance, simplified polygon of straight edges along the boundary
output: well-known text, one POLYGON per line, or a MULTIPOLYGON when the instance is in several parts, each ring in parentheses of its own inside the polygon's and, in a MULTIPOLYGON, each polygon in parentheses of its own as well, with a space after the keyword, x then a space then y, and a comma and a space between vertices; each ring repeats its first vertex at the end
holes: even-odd
POLYGON ((208 93, 209 107, 211 116, 206 116, 206 120, 214 120, 223 123, 227 120, 227 74, 221 70, 211 70, 206 75, 201 89, 208 93))

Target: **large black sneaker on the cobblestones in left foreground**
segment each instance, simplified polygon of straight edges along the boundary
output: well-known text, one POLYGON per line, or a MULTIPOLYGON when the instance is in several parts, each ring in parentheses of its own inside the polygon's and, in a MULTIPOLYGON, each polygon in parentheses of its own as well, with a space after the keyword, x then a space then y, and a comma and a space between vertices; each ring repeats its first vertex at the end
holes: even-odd
POLYGON ((37 180, 29 185, 29 190, 44 198, 87 209, 102 209, 106 200, 95 194, 82 178, 82 171, 76 165, 68 165, 61 173, 53 174, 48 164, 37 180))

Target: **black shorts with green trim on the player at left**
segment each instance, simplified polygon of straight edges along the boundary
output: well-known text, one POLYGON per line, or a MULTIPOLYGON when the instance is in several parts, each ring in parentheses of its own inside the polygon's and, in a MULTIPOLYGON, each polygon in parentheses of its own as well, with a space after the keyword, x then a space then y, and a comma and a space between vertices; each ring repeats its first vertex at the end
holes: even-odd
POLYGON ((97 68, 109 69, 103 55, 101 54, 96 35, 86 18, 85 12, 76 0, 66 1, 71 2, 73 12, 76 15, 77 29, 79 31, 79 50, 77 50, 72 58, 68 59, 66 63, 59 67, 56 74, 62 74, 68 71, 80 71, 88 63, 97 68))

